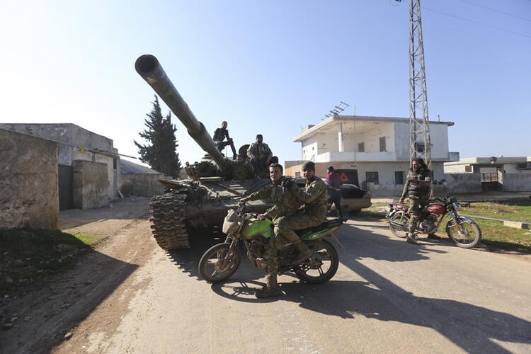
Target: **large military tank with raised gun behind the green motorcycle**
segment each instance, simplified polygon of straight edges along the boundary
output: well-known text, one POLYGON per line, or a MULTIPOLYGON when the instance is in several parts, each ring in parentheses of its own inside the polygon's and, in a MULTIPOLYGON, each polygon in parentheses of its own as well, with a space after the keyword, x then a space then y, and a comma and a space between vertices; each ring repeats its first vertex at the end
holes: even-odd
MULTIPOLYGON (((237 207, 239 198, 263 188, 270 179, 232 180, 234 161, 225 159, 217 150, 205 126, 195 118, 156 57, 140 56, 135 69, 181 120, 198 148, 206 153, 199 162, 185 163, 189 179, 161 180, 164 194, 155 195, 149 202, 153 236, 161 249, 190 248, 196 230, 220 226, 227 210, 237 207)), ((242 146, 239 152, 245 154, 247 146, 242 146)), ((263 212, 271 205, 256 200, 250 202, 249 212, 263 212)))

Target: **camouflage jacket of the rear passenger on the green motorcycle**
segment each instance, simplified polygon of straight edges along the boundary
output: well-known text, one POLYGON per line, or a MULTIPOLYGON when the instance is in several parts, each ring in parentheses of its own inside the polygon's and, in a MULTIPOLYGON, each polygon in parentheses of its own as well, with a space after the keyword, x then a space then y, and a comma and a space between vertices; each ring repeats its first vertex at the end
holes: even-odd
POLYGON ((306 181, 306 188, 304 189, 297 187, 294 183, 290 190, 299 200, 304 202, 305 213, 315 217, 315 219, 324 220, 326 218, 329 193, 321 178, 314 177, 312 181, 306 181))

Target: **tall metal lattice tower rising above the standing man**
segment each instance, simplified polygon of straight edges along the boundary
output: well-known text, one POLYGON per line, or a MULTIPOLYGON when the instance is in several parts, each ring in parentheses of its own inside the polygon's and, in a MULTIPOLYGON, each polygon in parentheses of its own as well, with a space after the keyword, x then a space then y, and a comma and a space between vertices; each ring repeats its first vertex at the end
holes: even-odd
POLYGON ((409 0, 409 164, 421 157, 431 166, 426 67, 422 40, 421 0, 409 0))

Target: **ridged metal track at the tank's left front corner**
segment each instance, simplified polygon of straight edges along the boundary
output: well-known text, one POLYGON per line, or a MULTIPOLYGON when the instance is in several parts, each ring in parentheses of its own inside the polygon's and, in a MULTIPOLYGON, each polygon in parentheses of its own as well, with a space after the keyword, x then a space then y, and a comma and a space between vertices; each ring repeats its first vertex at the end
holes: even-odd
POLYGON ((164 251, 190 248, 183 215, 186 191, 187 188, 178 188, 170 193, 155 195, 149 202, 153 236, 164 251))

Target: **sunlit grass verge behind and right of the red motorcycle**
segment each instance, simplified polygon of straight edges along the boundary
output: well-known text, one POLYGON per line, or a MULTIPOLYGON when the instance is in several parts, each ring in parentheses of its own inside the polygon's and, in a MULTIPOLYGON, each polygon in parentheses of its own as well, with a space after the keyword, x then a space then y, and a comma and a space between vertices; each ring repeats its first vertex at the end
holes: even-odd
MULTIPOLYGON (((386 203, 375 203, 362 210, 362 215, 385 220, 386 203)), ((473 202, 469 207, 462 207, 460 214, 493 217, 520 222, 531 222, 531 201, 515 202, 473 202)), ((472 218, 474 219, 474 218, 472 218)), ((481 229, 481 243, 504 251, 515 251, 531 254, 531 230, 506 227, 503 222, 495 220, 474 219, 481 229)), ((446 236, 445 225, 447 217, 442 221, 437 234, 446 236)))

